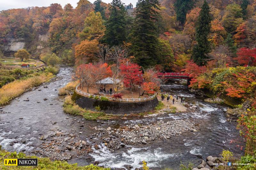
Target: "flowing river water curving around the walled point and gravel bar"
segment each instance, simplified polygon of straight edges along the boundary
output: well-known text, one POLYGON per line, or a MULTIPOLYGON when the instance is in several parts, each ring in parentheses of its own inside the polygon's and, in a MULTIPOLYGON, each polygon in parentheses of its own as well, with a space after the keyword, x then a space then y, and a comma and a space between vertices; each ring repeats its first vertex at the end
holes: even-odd
MULTIPOLYGON (((168 116, 108 121, 87 121, 83 117, 66 114, 62 110, 64 97, 58 96, 56 89, 65 86, 71 80, 72 71, 70 67, 61 67, 56 80, 47 84, 48 88, 39 86, 36 90, 24 93, 19 99, 12 100, 4 107, 5 113, 0 114, 0 145, 2 148, 30 154, 38 145, 41 145, 40 136, 54 128, 74 134, 82 131, 83 134, 77 136, 81 140, 90 142, 88 137, 97 132, 91 128, 94 126, 107 128, 151 124, 159 120, 166 122, 173 119, 191 119, 196 120, 198 124, 197 132, 172 136, 168 140, 149 141, 147 145, 126 145, 115 152, 109 151, 102 144, 99 145, 99 149, 92 147, 93 152, 89 155, 105 167, 121 168, 128 164, 134 169, 141 167, 142 160, 145 160, 152 169, 165 167, 178 169, 180 162, 184 164, 192 162, 198 165, 209 155, 219 156, 223 149, 228 149, 237 156, 244 153, 243 149, 241 150, 241 146, 244 146, 243 139, 236 130, 236 122, 227 121, 225 113, 227 106, 206 103, 204 97, 195 96, 188 91, 187 87, 174 83, 174 81, 162 85, 163 91, 184 96, 187 103, 196 105, 199 109, 168 116), (23 101, 27 98, 29 101, 23 101), (44 98, 48 100, 44 101, 44 98), (52 124, 53 121, 57 123, 52 124), (82 121, 85 123, 81 128, 80 122, 82 121), (13 145, 10 145, 11 143, 13 145)), ((88 164, 83 156, 70 159, 69 162, 77 162, 79 165, 88 164)))

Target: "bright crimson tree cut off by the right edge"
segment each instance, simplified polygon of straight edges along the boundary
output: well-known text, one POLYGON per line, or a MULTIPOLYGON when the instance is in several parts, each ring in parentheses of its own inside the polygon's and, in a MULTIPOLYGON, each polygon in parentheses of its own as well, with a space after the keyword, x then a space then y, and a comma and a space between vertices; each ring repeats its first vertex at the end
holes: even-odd
POLYGON ((240 48, 237 51, 237 57, 234 58, 239 64, 244 66, 256 66, 256 48, 240 48))

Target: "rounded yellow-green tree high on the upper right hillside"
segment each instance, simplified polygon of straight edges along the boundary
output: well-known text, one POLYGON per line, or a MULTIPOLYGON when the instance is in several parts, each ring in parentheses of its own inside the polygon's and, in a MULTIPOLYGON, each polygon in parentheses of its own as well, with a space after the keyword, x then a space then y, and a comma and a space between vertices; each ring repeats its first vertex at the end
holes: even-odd
POLYGON ((226 7, 225 14, 222 18, 222 25, 227 32, 234 33, 238 25, 243 22, 242 9, 238 4, 229 4, 226 7))

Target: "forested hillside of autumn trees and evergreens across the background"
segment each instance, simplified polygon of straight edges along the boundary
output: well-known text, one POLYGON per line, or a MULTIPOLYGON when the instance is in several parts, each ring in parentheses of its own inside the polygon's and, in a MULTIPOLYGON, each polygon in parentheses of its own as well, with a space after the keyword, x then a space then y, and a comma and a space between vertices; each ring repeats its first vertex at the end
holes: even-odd
POLYGON ((244 59, 237 51, 255 47, 255 1, 207 2, 201 13, 208 18, 200 17, 203 0, 140 0, 135 10, 118 0, 80 0, 75 8, 53 3, 1 11, 1 49, 5 56, 19 48, 34 58, 55 53, 78 64, 105 61, 106 52, 119 46, 143 67, 175 72, 190 59, 199 65, 215 65, 220 57, 229 66, 253 65, 250 56, 244 59))

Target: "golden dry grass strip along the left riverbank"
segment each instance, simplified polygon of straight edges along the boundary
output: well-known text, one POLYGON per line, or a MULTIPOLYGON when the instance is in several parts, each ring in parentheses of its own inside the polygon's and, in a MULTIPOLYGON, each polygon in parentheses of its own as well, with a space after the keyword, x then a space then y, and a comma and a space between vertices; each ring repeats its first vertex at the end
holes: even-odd
POLYGON ((52 73, 42 73, 40 75, 29 77, 25 80, 15 80, 4 85, 0 89, 0 106, 7 104, 13 98, 52 78, 52 73))

